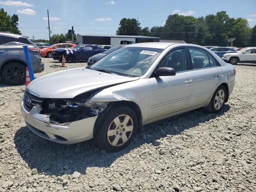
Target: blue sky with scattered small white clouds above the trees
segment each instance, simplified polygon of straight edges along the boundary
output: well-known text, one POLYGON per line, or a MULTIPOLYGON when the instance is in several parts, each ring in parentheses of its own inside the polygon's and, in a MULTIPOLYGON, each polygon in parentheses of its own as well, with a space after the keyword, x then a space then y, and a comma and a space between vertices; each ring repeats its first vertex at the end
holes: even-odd
POLYGON ((141 26, 161 26, 173 13, 195 17, 225 10, 230 17, 256 24, 256 0, 0 0, 0 8, 18 14, 23 35, 48 39, 47 9, 52 34, 115 34, 120 20, 139 18, 141 26))

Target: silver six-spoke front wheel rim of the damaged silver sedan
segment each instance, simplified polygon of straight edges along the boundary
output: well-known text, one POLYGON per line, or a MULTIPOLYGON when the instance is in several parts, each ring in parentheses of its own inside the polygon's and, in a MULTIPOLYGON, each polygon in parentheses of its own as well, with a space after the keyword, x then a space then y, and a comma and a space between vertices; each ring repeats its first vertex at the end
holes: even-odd
POLYGON ((122 114, 114 118, 108 127, 108 142, 112 146, 122 146, 131 137, 133 131, 133 121, 129 115, 122 114))

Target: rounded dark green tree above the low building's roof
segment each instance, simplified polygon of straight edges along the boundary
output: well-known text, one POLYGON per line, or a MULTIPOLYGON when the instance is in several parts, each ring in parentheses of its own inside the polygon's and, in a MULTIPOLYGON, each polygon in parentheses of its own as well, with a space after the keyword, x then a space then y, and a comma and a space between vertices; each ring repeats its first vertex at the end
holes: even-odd
POLYGON ((135 18, 122 18, 116 30, 117 35, 138 35, 141 30, 140 23, 135 18))

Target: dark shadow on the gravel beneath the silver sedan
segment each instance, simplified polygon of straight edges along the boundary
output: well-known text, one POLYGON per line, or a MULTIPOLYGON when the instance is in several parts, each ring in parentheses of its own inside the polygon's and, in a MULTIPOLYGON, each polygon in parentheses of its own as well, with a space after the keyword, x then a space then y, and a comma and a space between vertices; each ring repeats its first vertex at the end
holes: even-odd
POLYGON ((109 167, 117 158, 145 143, 157 146, 159 143, 156 140, 166 135, 178 135, 200 123, 222 116, 229 109, 230 106, 227 104, 218 114, 209 114, 203 109, 198 109, 148 124, 143 127, 146 140, 138 134, 127 148, 116 153, 105 153, 96 146, 93 140, 72 145, 57 144, 36 136, 26 126, 21 127, 15 133, 14 144, 28 167, 37 168, 39 173, 42 172, 43 166, 49 165, 48 170, 44 170, 49 175, 72 174, 74 171, 81 174, 91 171, 93 174, 93 168, 87 169, 88 167, 109 167), (65 172, 63 165, 68 165, 65 172))

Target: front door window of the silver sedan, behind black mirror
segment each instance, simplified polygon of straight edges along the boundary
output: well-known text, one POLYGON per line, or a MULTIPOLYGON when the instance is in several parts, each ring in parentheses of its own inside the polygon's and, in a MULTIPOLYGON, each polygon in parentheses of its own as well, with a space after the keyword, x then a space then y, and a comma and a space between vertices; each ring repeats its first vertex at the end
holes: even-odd
POLYGON ((160 64, 159 67, 171 67, 174 68, 176 72, 187 70, 187 57, 185 49, 178 49, 170 54, 160 64))

